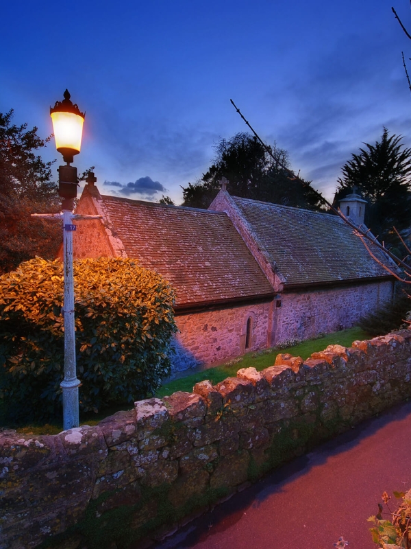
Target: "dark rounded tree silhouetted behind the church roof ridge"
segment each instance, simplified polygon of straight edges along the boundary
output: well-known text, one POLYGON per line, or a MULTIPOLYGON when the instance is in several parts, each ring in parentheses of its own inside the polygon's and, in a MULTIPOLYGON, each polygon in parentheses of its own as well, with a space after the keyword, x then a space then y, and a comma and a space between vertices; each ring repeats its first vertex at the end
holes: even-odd
POLYGON ((247 133, 238 133, 229 140, 221 139, 208 172, 195 185, 188 183, 188 187, 183 187, 183 206, 208 208, 221 188, 221 178, 225 177, 229 180, 227 190, 233 196, 320 209, 321 200, 310 183, 303 185, 301 180, 291 180, 279 164, 289 167, 287 152, 270 149, 276 161, 256 137, 247 133))

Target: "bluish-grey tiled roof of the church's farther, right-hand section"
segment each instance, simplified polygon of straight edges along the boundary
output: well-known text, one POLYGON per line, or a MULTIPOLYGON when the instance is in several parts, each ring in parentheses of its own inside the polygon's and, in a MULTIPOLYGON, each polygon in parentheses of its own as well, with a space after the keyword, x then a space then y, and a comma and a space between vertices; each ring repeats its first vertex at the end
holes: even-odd
MULTIPOLYGON (((388 276, 353 229, 336 215, 231 198, 286 278, 286 286, 388 276)), ((389 266, 384 253, 373 248, 378 259, 389 266)))

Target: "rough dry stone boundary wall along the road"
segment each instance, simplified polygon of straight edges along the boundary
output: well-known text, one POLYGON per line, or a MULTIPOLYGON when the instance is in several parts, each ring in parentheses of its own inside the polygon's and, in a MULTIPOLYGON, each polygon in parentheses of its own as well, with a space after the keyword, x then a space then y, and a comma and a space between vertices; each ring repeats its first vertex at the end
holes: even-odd
POLYGON ((4 431, 0 548, 111 549, 158 539, 410 395, 411 330, 403 330, 305 361, 279 355, 264 371, 138 401, 95 427, 4 431))

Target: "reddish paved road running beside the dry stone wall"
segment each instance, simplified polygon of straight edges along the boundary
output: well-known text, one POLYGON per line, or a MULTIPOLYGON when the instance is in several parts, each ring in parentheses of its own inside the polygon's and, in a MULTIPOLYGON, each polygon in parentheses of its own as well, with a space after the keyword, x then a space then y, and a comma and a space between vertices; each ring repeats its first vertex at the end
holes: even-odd
POLYGON ((343 536, 348 549, 375 549, 366 519, 384 490, 410 488, 411 402, 294 460, 155 548, 333 549, 343 536))

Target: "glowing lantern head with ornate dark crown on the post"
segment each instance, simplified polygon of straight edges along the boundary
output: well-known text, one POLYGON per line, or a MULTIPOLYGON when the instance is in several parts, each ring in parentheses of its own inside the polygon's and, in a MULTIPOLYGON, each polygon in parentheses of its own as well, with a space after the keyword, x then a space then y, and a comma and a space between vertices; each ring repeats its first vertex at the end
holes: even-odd
POLYGON ((64 162, 69 164, 73 162, 73 156, 80 152, 86 113, 82 113, 77 104, 70 101, 70 93, 66 90, 64 100, 56 101, 55 106, 50 107, 50 116, 55 148, 63 155, 64 162))

